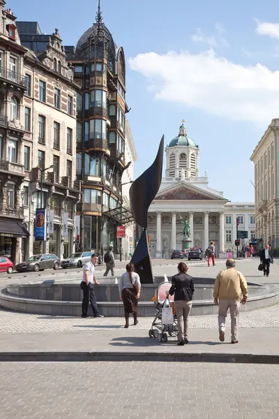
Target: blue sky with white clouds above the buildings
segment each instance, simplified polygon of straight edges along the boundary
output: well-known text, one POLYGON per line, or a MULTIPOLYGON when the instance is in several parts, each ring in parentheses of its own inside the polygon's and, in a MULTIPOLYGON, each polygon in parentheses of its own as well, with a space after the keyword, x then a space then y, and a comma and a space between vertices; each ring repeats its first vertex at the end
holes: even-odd
MULTIPOLYGON (((17 20, 59 28, 75 45, 98 0, 6 0, 17 20)), ((278 0, 101 0, 103 22, 126 55, 127 119, 138 160, 150 166, 160 138, 181 120, 199 145, 199 176, 231 201, 252 201, 250 156, 279 117, 278 0), (276 20, 277 17, 277 20, 276 20)))

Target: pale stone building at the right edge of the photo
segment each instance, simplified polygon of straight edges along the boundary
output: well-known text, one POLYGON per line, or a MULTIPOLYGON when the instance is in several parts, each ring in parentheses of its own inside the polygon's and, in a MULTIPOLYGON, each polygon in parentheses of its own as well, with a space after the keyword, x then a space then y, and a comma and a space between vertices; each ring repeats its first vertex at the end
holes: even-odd
POLYGON ((255 167, 256 235, 279 248, 279 119, 273 119, 250 157, 255 167))

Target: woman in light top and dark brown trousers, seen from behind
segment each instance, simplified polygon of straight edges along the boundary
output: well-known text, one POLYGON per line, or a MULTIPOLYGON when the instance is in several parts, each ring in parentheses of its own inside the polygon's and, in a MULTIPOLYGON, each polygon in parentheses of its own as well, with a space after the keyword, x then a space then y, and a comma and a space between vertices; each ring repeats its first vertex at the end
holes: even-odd
POLYGON ((126 265, 126 272, 121 275, 119 280, 119 294, 123 302, 125 314, 125 328, 129 327, 129 316, 133 313, 134 325, 139 323, 137 321, 137 302, 140 298, 140 275, 134 272, 133 263, 126 265))

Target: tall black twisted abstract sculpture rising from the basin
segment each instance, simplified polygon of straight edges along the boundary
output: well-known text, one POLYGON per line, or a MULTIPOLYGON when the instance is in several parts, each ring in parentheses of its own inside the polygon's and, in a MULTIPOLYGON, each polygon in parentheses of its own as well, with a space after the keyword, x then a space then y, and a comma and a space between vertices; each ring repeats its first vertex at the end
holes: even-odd
POLYGON ((151 258, 149 255, 149 244, 147 242, 147 213, 149 206, 160 188, 162 182, 164 154, 164 135, 156 159, 150 168, 146 169, 130 187, 130 208, 135 222, 142 226, 143 231, 140 241, 137 244, 131 263, 135 265, 135 272, 140 275, 142 284, 153 284, 153 273, 151 258))

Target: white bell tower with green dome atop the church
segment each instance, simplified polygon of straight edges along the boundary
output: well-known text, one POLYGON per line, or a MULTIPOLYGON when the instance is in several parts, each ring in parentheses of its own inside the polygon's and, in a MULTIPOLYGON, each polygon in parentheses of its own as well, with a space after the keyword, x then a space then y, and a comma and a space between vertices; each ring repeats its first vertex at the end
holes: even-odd
POLYGON ((198 177, 198 154, 199 146, 192 138, 188 137, 182 121, 179 127, 179 135, 174 137, 166 147, 167 154, 167 177, 189 178, 198 177))

